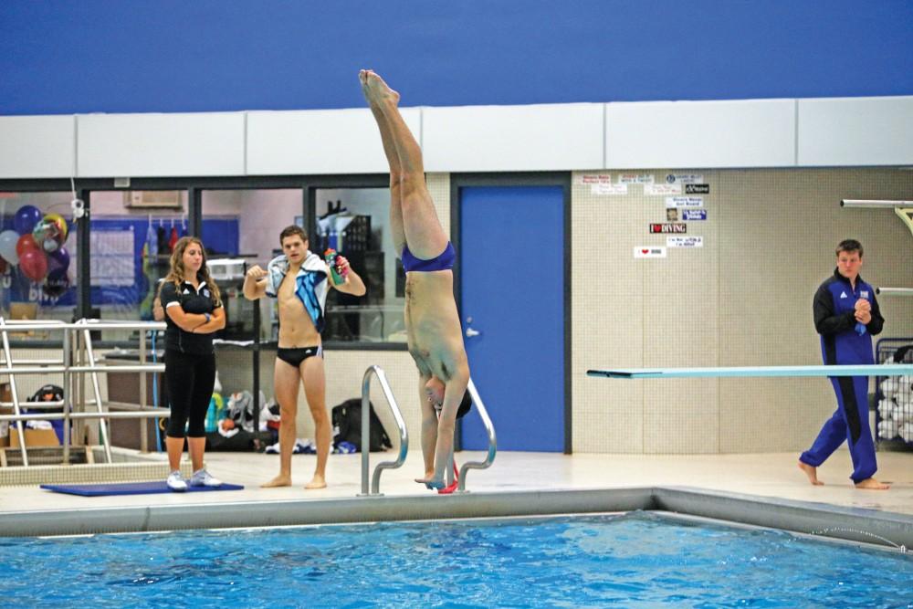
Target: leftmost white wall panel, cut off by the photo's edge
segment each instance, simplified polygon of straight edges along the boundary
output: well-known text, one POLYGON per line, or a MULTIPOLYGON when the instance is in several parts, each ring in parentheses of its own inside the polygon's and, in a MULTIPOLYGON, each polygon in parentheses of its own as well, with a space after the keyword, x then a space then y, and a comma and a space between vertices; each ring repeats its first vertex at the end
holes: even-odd
POLYGON ((0 116, 0 178, 68 178, 76 162, 73 116, 0 116))

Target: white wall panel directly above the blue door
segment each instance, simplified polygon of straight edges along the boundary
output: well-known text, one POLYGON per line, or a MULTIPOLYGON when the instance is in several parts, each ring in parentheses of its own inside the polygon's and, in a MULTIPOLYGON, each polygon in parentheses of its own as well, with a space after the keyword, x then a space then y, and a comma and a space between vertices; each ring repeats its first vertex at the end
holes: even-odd
POLYGON ((510 172, 603 165, 602 104, 425 108, 425 170, 510 172))

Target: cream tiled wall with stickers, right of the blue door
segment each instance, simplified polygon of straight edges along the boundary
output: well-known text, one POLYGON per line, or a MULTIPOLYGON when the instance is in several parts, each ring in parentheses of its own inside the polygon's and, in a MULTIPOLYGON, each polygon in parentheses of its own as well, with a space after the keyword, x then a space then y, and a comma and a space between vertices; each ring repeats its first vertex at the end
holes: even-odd
MULTIPOLYGON (((595 173, 595 172, 593 172, 595 173)), ((587 174, 593 174, 587 173, 587 174)), ((601 172, 616 182, 623 172, 601 172)), ((863 278, 913 286, 913 236, 891 210, 843 209, 843 198, 909 199, 895 169, 638 170, 657 184, 698 173, 708 219, 688 222, 703 247, 635 259, 665 222, 665 197, 572 191, 572 407, 575 452, 750 453, 801 450, 835 408, 830 383, 803 379, 615 381, 592 367, 800 365, 821 362, 812 297, 834 246, 866 247, 863 278)), ((913 299, 879 299, 882 336, 913 336, 913 299)))

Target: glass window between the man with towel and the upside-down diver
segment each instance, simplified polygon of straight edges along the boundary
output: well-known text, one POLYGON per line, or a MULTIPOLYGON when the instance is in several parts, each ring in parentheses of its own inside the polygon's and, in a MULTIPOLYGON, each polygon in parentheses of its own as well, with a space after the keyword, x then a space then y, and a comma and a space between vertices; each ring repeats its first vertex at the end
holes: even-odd
POLYGON ((405 274, 390 232, 388 188, 317 189, 317 234, 310 249, 349 259, 367 293, 331 290, 324 341, 405 342, 405 274))

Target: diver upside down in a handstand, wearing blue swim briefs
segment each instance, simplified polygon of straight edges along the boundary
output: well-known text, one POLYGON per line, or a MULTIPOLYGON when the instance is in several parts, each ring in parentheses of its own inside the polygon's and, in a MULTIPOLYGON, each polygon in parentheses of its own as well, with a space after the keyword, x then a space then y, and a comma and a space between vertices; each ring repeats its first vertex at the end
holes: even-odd
POLYGON ((443 488, 453 453, 456 414, 469 383, 453 292, 451 268, 456 253, 425 184, 422 150, 397 107, 399 93, 372 70, 362 69, 358 78, 390 165, 390 225, 406 271, 405 326, 409 353, 420 375, 425 458, 425 475, 415 481, 443 488))

